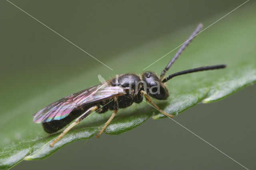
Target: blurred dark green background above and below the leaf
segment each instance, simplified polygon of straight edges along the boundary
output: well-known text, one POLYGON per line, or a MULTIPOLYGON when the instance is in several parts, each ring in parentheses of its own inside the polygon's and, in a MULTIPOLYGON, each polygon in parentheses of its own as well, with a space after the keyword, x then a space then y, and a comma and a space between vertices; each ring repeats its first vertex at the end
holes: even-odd
MULTIPOLYGON (((183 43, 199 22, 209 26, 245 1, 11 2, 114 69, 108 69, 9 2, 1 1, 0 114, 15 113, 15 109, 18 112, 22 108, 32 115, 37 110, 30 109, 30 105, 41 108, 96 85, 98 74, 107 79, 120 73, 141 73, 183 43), (126 55, 170 34, 173 41, 169 51, 159 50, 150 57, 126 55), (70 83, 73 79, 76 81, 70 83), (55 95, 55 89, 62 89, 62 95, 55 95), (50 102, 40 103, 37 100, 40 97, 48 97, 50 102)), ((202 35, 209 36, 215 26, 252 10, 251 6, 255 7, 255 3, 249 1, 202 35)), ((150 53, 150 49, 146 50, 150 53)), ((149 69, 159 73, 172 55, 174 53, 149 69)), ((180 67, 174 70, 180 71, 180 67)), ((255 169, 255 94, 255 85, 250 86, 218 103, 197 105, 175 120, 247 168, 255 169)), ((1 116, 0 125, 16 116, 22 117, 1 116)), ((44 160, 23 161, 15 168, 243 169, 170 119, 149 119, 124 134, 103 134, 100 139, 90 138, 86 144, 84 142, 73 142, 44 160)))

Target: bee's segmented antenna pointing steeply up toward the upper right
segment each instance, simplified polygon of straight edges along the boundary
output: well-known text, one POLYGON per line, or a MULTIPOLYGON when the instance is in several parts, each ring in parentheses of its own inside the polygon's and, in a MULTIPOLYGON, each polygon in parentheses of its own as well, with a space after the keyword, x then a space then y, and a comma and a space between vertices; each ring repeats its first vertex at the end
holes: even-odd
POLYGON ((194 30, 194 32, 190 35, 190 37, 186 40, 186 42, 184 42, 182 44, 182 46, 180 47, 180 49, 177 51, 177 53, 174 55, 174 57, 172 57, 172 60, 170 61, 170 63, 168 63, 168 65, 165 67, 165 69, 162 71, 161 73, 161 78, 164 76, 164 74, 166 73, 166 71, 168 71, 168 69, 170 69, 170 67, 172 66, 172 64, 176 61, 176 59, 178 59, 178 57, 180 56, 180 54, 182 53, 182 51, 184 51, 184 49, 188 46, 188 44, 190 42, 192 42, 192 40, 196 37, 196 34, 198 34, 200 32, 200 30, 203 28, 203 24, 200 23, 198 24, 198 26, 196 27, 196 30, 194 30))

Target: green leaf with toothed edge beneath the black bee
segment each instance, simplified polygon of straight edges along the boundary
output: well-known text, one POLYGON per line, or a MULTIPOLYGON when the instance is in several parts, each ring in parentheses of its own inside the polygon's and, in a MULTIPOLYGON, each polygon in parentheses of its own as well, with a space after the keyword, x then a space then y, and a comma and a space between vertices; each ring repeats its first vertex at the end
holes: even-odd
MULTIPOLYGON (((164 111, 177 115, 200 102, 209 103, 223 99, 256 81, 255 10, 232 14, 232 16, 221 20, 198 35, 168 73, 222 63, 227 64, 226 69, 182 75, 172 79, 168 82, 170 91, 168 100, 154 100, 164 111)), ((122 58, 118 57, 106 64, 123 63, 124 57, 130 57, 132 61, 136 59, 137 62, 127 61, 127 64, 141 68, 143 63, 146 67, 158 59, 156 56, 160 56, 159 54, 164 51, 170 51, 170 47, 176 47, 177 44, 184 41, 194 28, 195 25, 184 28, 178 33, 166 35, 124 53, 122 58), (136 56, 141 56, 141 58, 136 56), (145 58, 149 63, 143 61, 145 58), (152 60, 148 61, 148 59, 152 60)), ((171 53, 171 55, 173 54, 171 53)), ((164 57, 149 69, 160 73, 163 65, 165 66, 170 58, 170 55, 164 57)), ((116 69, 120 68, 122 65, 116 65, 116 69)), ((88 75, 97 69, 98 67, 88 71, 88 75)), ((2 114, 0 120, 0 168, 9 168, 23 158, 26 160, 46 158, 64 145, 76 140, 91 138, 100 130, 110 117, 110 111, 105 114, 91 115, 68 132, 54 147, 50 147, 49 142, 60 132, 53 135, 46 134, 40 125, 32 121, 32 113, 53 102, 50 100, 52 97, 63 97, 63 91, 74 90, 73 86, 80 85, 81 79, 84 79, 84 75, 71 79, 61 86, 58 85, 55 89, 46 89, 46 93, 2 114)), ((80 86, 82 87, 82 85, 80 86)), ((153 114, 153 119, 165 117, 145 102, 120 109, 105 132, 107 134, 126 132, 141 125, 153 114)))

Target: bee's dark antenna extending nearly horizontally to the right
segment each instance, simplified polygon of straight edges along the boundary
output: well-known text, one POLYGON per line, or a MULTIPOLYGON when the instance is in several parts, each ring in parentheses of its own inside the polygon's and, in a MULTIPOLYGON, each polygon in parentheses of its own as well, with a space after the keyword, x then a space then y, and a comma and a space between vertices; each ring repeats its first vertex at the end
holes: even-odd
POLYGON ((226 65, 222 64, 222 65, 212 65, 212 66, 206 66, 206 67, 198 67, 196 69, 189 69, 189 70, 184 70, 184 71, 180 71, 178 73, 174 73, 171 75, 168 75, 165 79, 163 79, 162 83, 165 83, 166 81, 170 80, 173 77, 176 77, 178 75, 183 75, 183 74, 188 74, 188 73, 194 73, 194 72, 198 72, 198 71, 206 71, 206 70, 214 70, 214 69, 223 69, 225 68, 226 65))

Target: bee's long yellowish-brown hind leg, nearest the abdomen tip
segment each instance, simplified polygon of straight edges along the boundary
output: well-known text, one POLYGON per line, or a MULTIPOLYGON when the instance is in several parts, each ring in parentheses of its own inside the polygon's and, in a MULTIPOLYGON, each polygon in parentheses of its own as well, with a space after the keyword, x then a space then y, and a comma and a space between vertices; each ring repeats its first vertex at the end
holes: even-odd
POLYGON ((86 118, 90 113, 93 111, 96 111, 98 109, 98 106, 91 107, 86 112, 84 112, 80 117, 76 119, 71 125, 69 125, 51 144, 50 146, 53 147, 53 145, 58 142, 72 127, 80 123, 84 118, 86 118))

